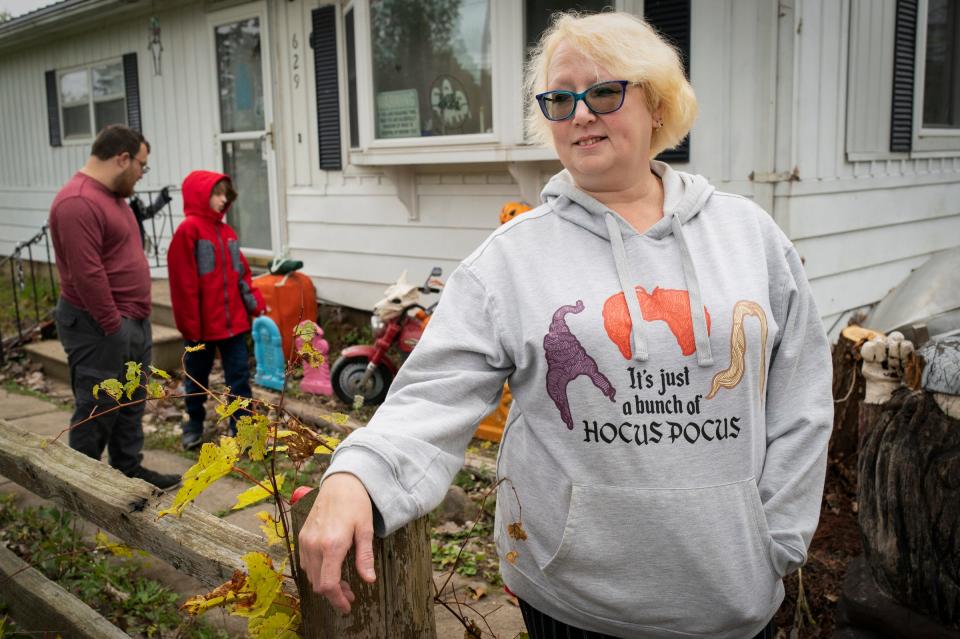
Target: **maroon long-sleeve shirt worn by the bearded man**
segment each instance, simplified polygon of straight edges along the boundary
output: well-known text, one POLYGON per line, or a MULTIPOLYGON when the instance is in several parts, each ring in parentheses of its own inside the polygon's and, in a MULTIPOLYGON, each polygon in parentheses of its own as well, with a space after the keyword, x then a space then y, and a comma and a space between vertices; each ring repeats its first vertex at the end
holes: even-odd
POLYGON ((60 294, 86 310, 105 333, 120 318, 150 316, 150 266, 126 200, 77 173, 50 206, 60 294))

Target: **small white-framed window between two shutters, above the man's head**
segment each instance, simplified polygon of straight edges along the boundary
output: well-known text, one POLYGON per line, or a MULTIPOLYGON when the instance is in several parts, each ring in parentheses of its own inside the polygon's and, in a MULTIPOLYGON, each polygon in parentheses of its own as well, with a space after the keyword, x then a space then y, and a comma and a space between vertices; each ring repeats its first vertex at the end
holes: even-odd
POLYGON ((59 89, 64 138, 89 138, 108 124, 127 124, 119 60, 63 72, 59 89))

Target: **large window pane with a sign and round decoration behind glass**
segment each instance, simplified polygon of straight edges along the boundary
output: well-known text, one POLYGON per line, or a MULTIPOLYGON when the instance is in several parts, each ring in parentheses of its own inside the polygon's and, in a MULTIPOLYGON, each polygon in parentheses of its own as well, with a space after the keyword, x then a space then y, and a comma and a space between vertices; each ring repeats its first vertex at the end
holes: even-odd
POLYGON ((375 137, 490 133, 491 0, 371 0, 375 137))

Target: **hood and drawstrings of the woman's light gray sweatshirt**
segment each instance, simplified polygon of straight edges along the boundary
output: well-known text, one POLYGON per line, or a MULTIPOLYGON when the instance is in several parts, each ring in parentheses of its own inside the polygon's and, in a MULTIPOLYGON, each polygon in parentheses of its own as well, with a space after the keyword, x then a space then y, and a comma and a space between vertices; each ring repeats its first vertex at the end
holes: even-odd
MULTIPOLYGON (((674 171, 663 162, 652 160, 650 169, 663 182, 663 219, 647 229, 643 235, 656 241, 666 241, 672 237, 679 245, 683 277, 689 292, 697 363, 700 366, 713 366, 713 352, 710 348, 700 281, 683 235, 683 225, 703 210, 710 196, 713 195, 714 188, 702 175, 674 171)), ((610 252, 617 269, 617 277, 630 313, 630 341, 633 357, 640 362, 647 361, 649 349, 643 330, 643 314, 640 310, 640 302, 633 292, 631 282, 635 279, 630 272, 630 263, 623 245, 625 236, 629 239, 639 236, 640 233, 620 215, 577 188, 573 183, 573 177, 566 169, 550 179, 541 193, 541 199, 564 220, 583 227, 610 242, 610 252)))

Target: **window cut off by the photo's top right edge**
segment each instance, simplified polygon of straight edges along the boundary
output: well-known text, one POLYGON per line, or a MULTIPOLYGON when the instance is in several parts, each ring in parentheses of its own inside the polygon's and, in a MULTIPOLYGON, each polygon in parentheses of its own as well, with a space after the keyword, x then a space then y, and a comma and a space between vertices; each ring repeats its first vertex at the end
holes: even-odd
POLYGON ((960 129, 960 6, 929 0, 923 126, 960 129))

